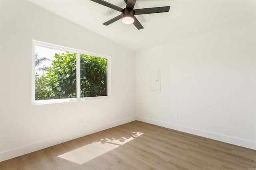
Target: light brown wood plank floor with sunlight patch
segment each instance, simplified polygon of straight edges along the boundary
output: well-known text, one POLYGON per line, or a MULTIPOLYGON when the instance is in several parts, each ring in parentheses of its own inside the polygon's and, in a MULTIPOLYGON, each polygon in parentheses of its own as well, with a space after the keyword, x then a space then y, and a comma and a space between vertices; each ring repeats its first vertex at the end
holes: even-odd
POLYGON ((0 162, 0 170, 256 170, 256 150, 134 121, 0 162))

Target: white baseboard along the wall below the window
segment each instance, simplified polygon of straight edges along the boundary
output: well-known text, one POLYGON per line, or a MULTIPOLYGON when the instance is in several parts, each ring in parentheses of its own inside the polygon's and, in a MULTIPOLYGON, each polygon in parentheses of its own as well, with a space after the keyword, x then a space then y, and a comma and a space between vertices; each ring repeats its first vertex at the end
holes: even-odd
POLYGON ((88 134, 99 132, 101 130, 105 130, 105 129, 108 129, 108 128, 116 127, 118 125, 129 123, 129 122, 132 122, 132 121, 135 121, 135 120, 136 120, 136 117, 130 117, 130 118, 127 118, 127 119, 122 119, 122 120, 119 120, 119 121, 107 123, 105 125, 100 125, 100 126, 97 126, 97 127, 80 130, 78 132, 65 134, 63 136, 58 136, 56 138, 50 138, 50 139, 47 139, 47 140, 44 140, 44 141, 41 141, 41 142, 28 144, 26 146, 22 146, 22 147, 19 147, 19 148, 14 148, 12 150, 7 150, 7 151, 4 151, 4 152, 0 152, 0 162, 2 162, 4 160, 11 159, 11 158, 15 158, 17 156, 28 154, 28 153, 31 153, 31 152, 34 152, 34 151, 37 151, 37 150, 40 150, 40 149, 44 149, 44 148, 47 148, 47 147, 50 147, 50 146, 54 146, 56 144, 67 142, 69 140, 80 138, 80 137, 86 136, 88 134))

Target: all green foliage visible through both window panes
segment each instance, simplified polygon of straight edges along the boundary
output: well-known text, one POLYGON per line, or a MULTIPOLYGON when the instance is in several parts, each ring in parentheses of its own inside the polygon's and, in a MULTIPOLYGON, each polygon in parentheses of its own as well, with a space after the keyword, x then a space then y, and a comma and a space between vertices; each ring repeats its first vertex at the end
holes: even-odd
MULTIPOLYGON (((80 97, 107 95, 107 59, 80 55, 80 97)), ((55 53, 46 73, 35 75, 35 99, 76 98, 76 53, 55 53)))

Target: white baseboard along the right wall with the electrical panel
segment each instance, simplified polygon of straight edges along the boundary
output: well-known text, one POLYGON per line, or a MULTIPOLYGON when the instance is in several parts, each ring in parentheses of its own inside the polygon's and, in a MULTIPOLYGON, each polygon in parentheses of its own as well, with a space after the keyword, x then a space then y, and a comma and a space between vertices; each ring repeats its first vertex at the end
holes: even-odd
POLYGON ((170 129, 174 129, 174 130, 178 130, 178 131, 182 131, 182 132, 186 132, 186 133, 190 133, 190 134, 195 134, 195 135, 198 135, 198 136, 202 136, 202 137, 218 140, 218 141, 221 141, 221 142, 226 142, 226 143, 234 144, 234 145, 237 145, 237 146, 242 146, 242 147, 245 147, 245 148, 250 148, 250 149, 256 150, 256 142, 254 142, 254 141, 244 140, 244 139, 235 138, 235 137, 232 137, 232 136, 226 136, 226 135, 223 135, 223 134, 217 134, 217 133, 213 133, 213 132, 208 132, 208 131, 204 131, 204 130, 200 130, 200 129, 184 127, 184 126, 175 125, 175 124, 172 124, 172 123, 157 121, 157 120, 154 120, 154 119, 148 119, 148 118, 145 118, 145 117, 138 117, 137 116, 136 120, 142 121, 142 122, 145 122, 145 123, 150 123, 150 124, 153 124, 153 125, 157 125, 157 126, 160 126, 160 127, 166 127, 166 128, 170 128, 170 129))

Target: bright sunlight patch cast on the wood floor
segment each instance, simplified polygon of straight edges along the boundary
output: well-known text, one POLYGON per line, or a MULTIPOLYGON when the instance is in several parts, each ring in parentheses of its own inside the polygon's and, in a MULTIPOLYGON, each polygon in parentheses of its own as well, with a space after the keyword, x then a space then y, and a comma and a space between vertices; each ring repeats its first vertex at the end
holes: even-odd
POLYGON ((99 142, 93 142, 86 146, 82 146, 81 148, 77 148, 70 152, 66 152, 64 154, 59 155, 59 158, 63 158, 65 160, 69 160, 71 162, 77 164, 84 164, 110 150, 117 148, 127 142, 137 138, 138 136, 142 135, 141 132, 133 132, 132 135, 128 137, 122 138, 104 138, 99 140, 99 142))

